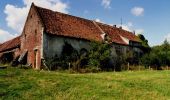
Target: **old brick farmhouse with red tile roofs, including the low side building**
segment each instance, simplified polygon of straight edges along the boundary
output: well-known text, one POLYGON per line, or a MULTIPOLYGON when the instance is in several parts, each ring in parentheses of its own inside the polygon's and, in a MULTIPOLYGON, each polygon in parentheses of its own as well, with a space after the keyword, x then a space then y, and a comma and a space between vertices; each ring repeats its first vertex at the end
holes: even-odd
MULTIPOLYGON (((113 56, 128 51, 142 53, 137 36, 121 27, 110 26, 45 8, 31 5, 21 36, 0 45, 0 56, 13 55, 13 59, 40 69, 42 60, 60 56, 63 46, 71 45, 78 52, 88 51, 90 42, 112 45, 113 56), (109 39, 109 40, 108 40, 109 39)), ((7 59, 7 58, 6 58, 7 59)))

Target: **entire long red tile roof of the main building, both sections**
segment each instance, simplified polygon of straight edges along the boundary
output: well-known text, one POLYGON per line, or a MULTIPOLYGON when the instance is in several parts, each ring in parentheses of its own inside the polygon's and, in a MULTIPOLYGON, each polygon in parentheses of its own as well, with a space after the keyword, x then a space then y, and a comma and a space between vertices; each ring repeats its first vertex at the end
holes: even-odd
MULTIPOLYGON (((47 33, 86 40, 102 41, 102 31, 93 23, 93 21, 60 12, 54 12, 37 6, 35 7, 42 19, 47 33)), ((137 36, 132 32, 107 24, 96 23, 111 37, 112 42, 127 45, 120 36, 131 41, 140 42, 137 36)))

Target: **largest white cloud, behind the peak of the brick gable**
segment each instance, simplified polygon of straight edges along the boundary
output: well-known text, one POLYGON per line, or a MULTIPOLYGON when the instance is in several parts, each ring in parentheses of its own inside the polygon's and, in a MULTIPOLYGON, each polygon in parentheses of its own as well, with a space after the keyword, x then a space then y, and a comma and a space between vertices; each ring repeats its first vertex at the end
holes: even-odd
POLYGON ((24 7, 7 4, 4 10, 7 15, 6 21, 8 27, 18 32, 18 34, 22 32, 32 2, 37 6, 48 8, 53 11, 68 13, 68 4, 63 3, 61 0, 23 0, 23 2, 24 7))

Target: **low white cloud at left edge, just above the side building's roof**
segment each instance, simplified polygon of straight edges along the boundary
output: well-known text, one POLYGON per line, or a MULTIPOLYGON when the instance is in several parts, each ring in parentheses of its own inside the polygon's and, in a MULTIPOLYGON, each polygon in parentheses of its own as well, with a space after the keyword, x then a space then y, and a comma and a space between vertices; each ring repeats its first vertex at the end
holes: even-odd
POLYGON ((10 40, 10 39, 12 39, 12 38, 14 38, 14 37, 16 37, 16 36, 17 36, 17 34, 12 35, 12 34, 10 34, 9 32, 0 29, 0 37, 1 37, 1 38, 0 38, 0 43, 3 43, 3 42, 5 42, 5 41, 7 41, 7 40, 10 40))

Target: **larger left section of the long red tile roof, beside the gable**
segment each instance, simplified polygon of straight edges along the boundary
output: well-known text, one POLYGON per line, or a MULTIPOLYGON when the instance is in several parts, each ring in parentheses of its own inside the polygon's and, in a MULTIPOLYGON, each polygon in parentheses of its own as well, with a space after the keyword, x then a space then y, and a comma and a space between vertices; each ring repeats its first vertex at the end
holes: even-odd
POLYGON ((54 12, 37 6, 35 7, 39 12, 47 33, 92 41, 102 41, 100 36, 100 34, 102 34, 101 31, 91 20, 54 12))

